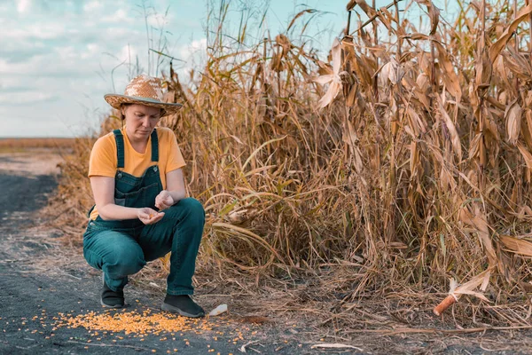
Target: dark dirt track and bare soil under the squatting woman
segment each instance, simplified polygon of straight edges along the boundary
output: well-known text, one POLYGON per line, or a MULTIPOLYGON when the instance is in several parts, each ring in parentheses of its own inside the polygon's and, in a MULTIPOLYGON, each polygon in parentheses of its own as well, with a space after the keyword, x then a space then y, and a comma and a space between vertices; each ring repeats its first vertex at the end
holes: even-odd
POLYGON ((120 315, 149 311, 165 315, 159 311, 164 280, 145 283, 133 278, 126 288, 129 306, 124 311, 108 311, 100 306, 101 273, 84 262, 80 248, 67 248, 60 241, 61 233, 48 226, 43 217, 48 197, 57 187, 58 162, 60 157, 49 152, 0 154, 1 354, 532 353, 531 333, 515 330, 473 335, 364 331, 353 335, 343 329, 339 333, 345 336, 321 339, 315 332, 306 331, 305 324, 287 324, 282 315, 272 315, 262 324, 243 323, 245 310, 239 309, 237 302, 208 294, 198 298, 207 311, 226 303, 230 312, 192 323, 192 330, 141 337, 136 333, 66 327, 65 319, 89 312, 120 315), (210 329, 204 330, 206 327, 210 329), (352 347, 313 347, 320 343, 352 347))

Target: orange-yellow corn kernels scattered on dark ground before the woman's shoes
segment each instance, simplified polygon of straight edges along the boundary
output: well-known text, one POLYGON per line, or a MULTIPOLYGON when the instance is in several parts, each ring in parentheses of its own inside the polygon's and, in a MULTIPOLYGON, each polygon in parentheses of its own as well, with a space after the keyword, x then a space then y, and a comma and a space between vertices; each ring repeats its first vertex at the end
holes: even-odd
MULTIPOLYGON (((195 351, 197 351, 198 344, 194 344, 195 342, 187 339, 186 333, 189 333, 202 335, 200 338, 204 339, 204 342, 207 341, 207 344, 203 343, 200 346, 207 347, 205 349, 206 353, 222 355, 215 350, 217 348, 215 343, 227 342, 240 346, 242 343, 246 343, 245 339, 247 341, 250 337, 257 335, 256 329, 259 327, 258 324, 254 323, 246 326, 242 321, 225 317, 191 319, 168 312, 152 310, 149 307, 137 307, 136 309, 130 309, 130 311, 129 309, 105 309, 101 312, 81 311, 82 313, 77 314, 73 310, 66 313, 59 312, 57 316, 52 317, 47 315, 46 310, 43 309, 40 317, 35 316, 32 319, 21 318, 18 331, 43 334, 45 339, 51 340, 56 338, 56 333, 57 335, 61 334, 59 328, 82 328, 88 331, 87 335, 82 335, 81 337, 71 336, 66 342, 84 343, 86 345, 84 349, 89 349, 90 346, 113 346, 113 344, 116 344, 117 346, 126 346, 136 350, 166 351, 167 353, 178 352, 177 347, 182 347, 186 351, 189 346, 194 347, 195 351), (52 322, 48 323, 47 320, 50 319, 52 322), (35 325, 37 325, 39 322, 42 330, 39 331, 37 328, 31 331, 32 326, 29 323, 36 323, 35 325), (153 344, 154 336, 156 337, 155 339, 163 342, 160 343, 161 346, 158 349, 143 348, 131 343, 120 344, 128 338, 137 338, 140 342, 150 340, 150 342, 146 343, 153 344), (112 343, 109 343, 109 341, 112 343), (208 343, 209 341, 215 343, 208 343)), ((0 319, 2 318, 0 317, 0 319)), ((11 323, 18 323, 18 321, 12 320, 11 323)), ((10 324, 10 321, 7 321, 6 324, 10 324)), ((4 329, 4 333, 5 331, 4 329)), ((192 339, 196 338, 195 336, 191 337, 192 339)), ((287 342, 285 341, 285 343, 287 342)), ((222 347, 225 348, 224 346, 222 347)), ((229 354, 232 355, 231 352, 229 354)))

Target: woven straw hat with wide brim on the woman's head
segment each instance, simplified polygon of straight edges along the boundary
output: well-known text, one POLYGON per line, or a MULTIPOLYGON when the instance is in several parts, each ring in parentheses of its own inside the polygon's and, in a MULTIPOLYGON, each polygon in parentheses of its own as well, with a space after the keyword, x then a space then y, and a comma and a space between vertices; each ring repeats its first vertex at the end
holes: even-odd
POLYGON ((162 115, 175 114, 183 106, 163 102, 160 79, 148 75, 138 75, 131 80, 123 95, 107 94, 104 99, 117 110, 120 110, 121 104, 138 104, 162 108, 162 115))

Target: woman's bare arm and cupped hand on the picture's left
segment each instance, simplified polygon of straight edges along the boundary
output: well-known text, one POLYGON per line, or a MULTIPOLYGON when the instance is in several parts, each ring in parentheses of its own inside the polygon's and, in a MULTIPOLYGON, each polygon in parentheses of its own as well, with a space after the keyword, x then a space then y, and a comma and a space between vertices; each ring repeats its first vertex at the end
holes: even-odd
POLYGON ((140 219, 145 225, 159 222, 164 213, 158 213, 150 208, 134 209, 114 204, 114 178, 90 177, 90 186, 94 194, 94 201, 99 217, 106 221, 122 219, 140 219), (152 216, 152 217, 150 217, 152 216))

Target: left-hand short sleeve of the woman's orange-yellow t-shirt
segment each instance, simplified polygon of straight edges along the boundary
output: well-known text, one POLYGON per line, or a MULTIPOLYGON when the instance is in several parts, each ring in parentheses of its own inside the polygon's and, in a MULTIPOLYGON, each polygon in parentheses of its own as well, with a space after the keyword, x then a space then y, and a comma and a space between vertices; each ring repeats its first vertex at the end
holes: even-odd
POLYGON ((114 177, 116 174, 116 146, 109 135, 98 138, 89 160, 89 177, 114 177))

